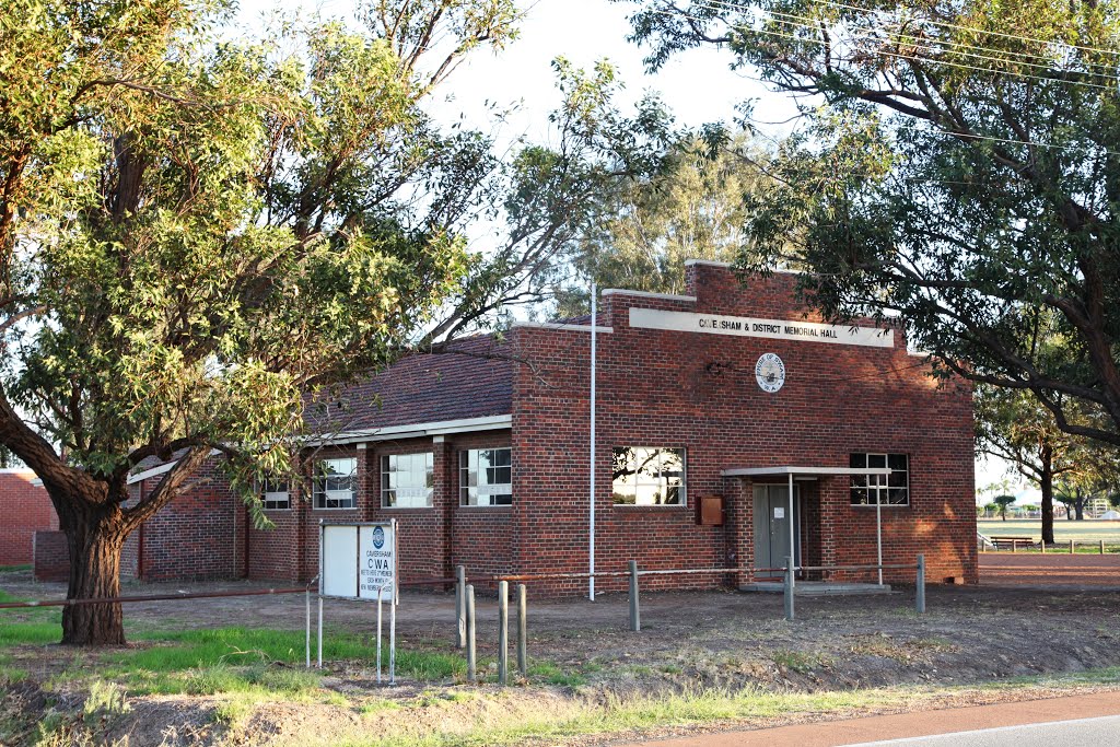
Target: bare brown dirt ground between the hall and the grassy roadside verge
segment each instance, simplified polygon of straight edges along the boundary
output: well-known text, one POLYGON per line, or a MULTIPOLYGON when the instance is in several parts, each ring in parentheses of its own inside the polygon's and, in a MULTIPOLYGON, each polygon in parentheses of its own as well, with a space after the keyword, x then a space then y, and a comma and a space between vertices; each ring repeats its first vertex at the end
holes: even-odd
MULTIPOLYGON (((60 598, 64 592, 59 585, 30 582, 26 572, 0 575, 0 588, 35 599, 60 598)), ((124 594, 252 588, 262 586, 143 585, 125 588, 124 594)), ((578 684, 522 687, 504 695, 502 708, 561 709, 566 699, 576 694, 586 698, 589 693, 625 697, 752 687, 819 692, 908 683, 969 685, 1120 666, 1117 588, 934 586, 927 590, 924 615, 914 610, 913 589, 875 596, 799 597, 796 601, 797 619, 788 623, 783 618, 781 595, 647 592, 642 597, 643 629, 633 633, 627 629, 625 595, 604 595, 595 603, 542 600, 534 599, 530 589, 531 663, 554 665, 578 679, 578 684)), ((399 609, 402 648, 454 651, 454 595, 405 592, 399 609)), ((314 611, 312 607, 312 624, 314 611)), ((305 598, 289 595, 140 603, 125 608, 125 619, 132 631, 231 625, 302 629, 305 598)), ((496 620, 496 600, 479 598, 479 657, 495 655, 496 620)), ((325 622, 328 629, 372 635, 375 607, 328 600, 325 622)), ((52 646, 12 653, 38 682, 62 671, 72 655, 52 646)), ((332 687, 339 691, 355 687, 357 675, 345 662, 329 665, 332 687)), ((380 691, 379 695, 416 698, 418 692, 440 687, 409 682, 402 685, 380 691)), ((158 699, 141 706, 152 713, 170 708, 158 699)), ((181 711, 175 718, 181 720, 183 729, 195 723, 205 731, 198 726, 205 723, 205 718, 186 713, 190 709, 205 711, 205 701, 196 699, 189 708, 179 702, 176 708, 181 711)), ((259 712, 254 721, 262 732, 277 735, 279 741, 274 744, 284 744, 282 735, 298 729, 306 718, 306 710, 297 713, 277 704, 259 712)), ((332 718, 348 717, 343 713, 332 718)), ((181 744, 205 741, 197 734, 195 737, 181 744)))

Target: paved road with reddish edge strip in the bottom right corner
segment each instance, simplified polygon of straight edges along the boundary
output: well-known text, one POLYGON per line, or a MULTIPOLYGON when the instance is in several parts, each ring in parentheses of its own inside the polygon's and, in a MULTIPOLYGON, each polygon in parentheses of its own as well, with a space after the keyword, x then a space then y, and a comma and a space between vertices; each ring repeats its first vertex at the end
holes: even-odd
POLYGON ((1120 747, 1120 692, 706 734, 641 747, 1120 747))

